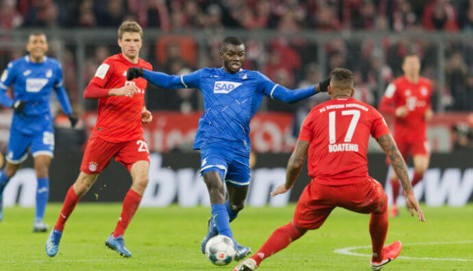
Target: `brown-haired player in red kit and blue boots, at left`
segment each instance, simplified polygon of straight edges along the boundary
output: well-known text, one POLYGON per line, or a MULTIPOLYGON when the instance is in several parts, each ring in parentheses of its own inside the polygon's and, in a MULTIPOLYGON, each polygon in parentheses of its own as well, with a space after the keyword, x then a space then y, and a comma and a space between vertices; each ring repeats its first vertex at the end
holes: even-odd
POLYGON ((104 60, 84 91, 84 98, 99 99, 99 117, 88 140, 79 177, 67 192, 58 222, 46 241, 46 253, 50 257, 58 253, 64 224, 75 205, 112 157, 128 169, 133 183, 123 200, 117 227, 106 240, 106 246, 123 257, 132 256, 125 248, 123 233, 138 209, 148 182, 149 152, 141 125, 149 123, 152 116, 145 107, 147 81, 143 78, 127 81, 126 71, 130 67, 152 67, 138 58, 143 43, 143 30, 138 23, 125 21, 118 36, 121 54, 104 60))

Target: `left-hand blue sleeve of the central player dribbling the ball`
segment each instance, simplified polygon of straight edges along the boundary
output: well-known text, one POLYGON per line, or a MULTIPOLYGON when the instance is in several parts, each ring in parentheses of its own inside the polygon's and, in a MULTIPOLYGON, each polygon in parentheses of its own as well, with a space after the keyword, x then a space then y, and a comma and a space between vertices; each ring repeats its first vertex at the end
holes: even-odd
POLYGON ((187 75, 169 75, 159 71, 144 70, 143 78, 165 89, 189 89, 199 88, 200 78, 202 78, 202 70, 194 71, 187 75))

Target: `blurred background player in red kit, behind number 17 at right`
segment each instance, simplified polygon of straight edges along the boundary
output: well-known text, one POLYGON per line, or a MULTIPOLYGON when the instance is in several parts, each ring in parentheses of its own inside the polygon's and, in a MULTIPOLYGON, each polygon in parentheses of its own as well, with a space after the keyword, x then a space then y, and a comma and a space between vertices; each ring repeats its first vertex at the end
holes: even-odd
MULTIPOLYGON (((394 80, 387 86, 381 99, 379 110, 395 116, 394 140, 407 161, 408 155, 413 157, 414 176, 412 186, 424 178, 430 160, 430 145, 426 136, 426 121, 432 118, 430 95, 432 87, 430 80, 420 77, 420 59, 415 54, 409 54, 402 63, 404 76, 394 80)), ((387 158, 389 163, 389 158, 387 158)), ((397 198, 400 191, 399 178, 392 174, 393 207, 391 216, 398 215, 397 198)))

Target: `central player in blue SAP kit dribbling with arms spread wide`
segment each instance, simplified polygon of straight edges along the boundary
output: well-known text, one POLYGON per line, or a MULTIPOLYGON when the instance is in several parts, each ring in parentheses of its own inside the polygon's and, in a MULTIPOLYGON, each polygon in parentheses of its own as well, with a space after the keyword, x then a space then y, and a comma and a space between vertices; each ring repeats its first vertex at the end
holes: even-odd
MULTIPOLYGON (((196 88, 204 96, 204 115, 199 119, 194 149, 200 150, 201 174, 204 176, 212 204, 208 233, 201 244, 202 253, 211 237, 221 234, 233 239, 230 222, 241 209, 250 184, 250 121, 263 95, 284 102, 296 102, 324 91, 328 80, 306 89, 289 90, 274 84, 258 71, 241 69, 245 45, 237 37, 223 40, 220 51, 223 67, 199 69, 189 75, 130 68, 128 80, 143 77, 166 89, 196 88), (226 182, 228 200, 225 197, 226 182)), ((234 240, 234 239, 233 239, 234 240)), ((237 260, 251 252, 234 241, 237 260)))

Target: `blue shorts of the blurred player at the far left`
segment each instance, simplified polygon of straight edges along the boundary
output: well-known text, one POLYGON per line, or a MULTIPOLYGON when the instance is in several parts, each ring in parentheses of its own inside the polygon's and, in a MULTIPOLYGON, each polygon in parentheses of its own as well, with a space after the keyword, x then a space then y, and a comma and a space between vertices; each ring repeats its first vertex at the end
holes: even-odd
POLYGON ((23 132, 10 129, 6 160, 12 164, 23 163, 28 157, 28 148, 33 157, 38 155, 53 157, 54 133, 44 131, 40 134, 23 134, 23 132))

